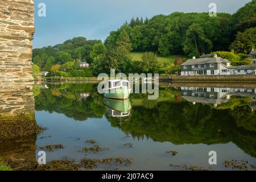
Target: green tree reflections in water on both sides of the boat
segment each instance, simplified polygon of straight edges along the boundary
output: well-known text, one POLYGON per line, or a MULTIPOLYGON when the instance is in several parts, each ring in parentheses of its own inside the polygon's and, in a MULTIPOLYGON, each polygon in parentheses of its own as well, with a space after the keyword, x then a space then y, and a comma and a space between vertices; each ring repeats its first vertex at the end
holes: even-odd
MULTIPOLYGON (((136 106, 130 119, 121 126, 119 118, 107 116, 108 121, 138 139, 174 144, 234 142, 247 154, 256 156, 256 117, 247 106, 247 98, 234 97, 214 108, 184 100, 177 102, 179 94, 178 90, 163 87, 156 101, 148 101, 147 94, 131 94, 131 103, 136 106)), ((41 90, 35 100, 36 110, 63 113, 79 121, 102 118, 106 114, 103 96, 92 84, 51 85, 51 89, 41 90), (90 96, 81 98, 80 93, 90 93, 90 96)))

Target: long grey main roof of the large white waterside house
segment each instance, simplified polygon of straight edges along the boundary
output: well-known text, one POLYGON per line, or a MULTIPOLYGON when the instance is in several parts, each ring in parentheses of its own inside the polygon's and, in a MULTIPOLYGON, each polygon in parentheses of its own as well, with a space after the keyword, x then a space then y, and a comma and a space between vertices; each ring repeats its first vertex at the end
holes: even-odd
POLYGON ((195 65, 195 64, 206 64, 206 63, 231 63, 229 60, 221 57, 203 57, 199 59, 189 59, 182 65, 195 65))

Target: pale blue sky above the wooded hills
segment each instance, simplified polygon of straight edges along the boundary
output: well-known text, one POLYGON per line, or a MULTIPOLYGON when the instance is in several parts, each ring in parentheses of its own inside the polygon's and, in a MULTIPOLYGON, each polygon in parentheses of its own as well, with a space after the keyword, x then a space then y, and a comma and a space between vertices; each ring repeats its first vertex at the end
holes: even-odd
POLYGON ((33 47, 54 46, 76 36, 104 41, 133 16, 207 12, 212 2, 218 12, 233 14, 250 0, 35 0, 33 47), (38 16, 39 3, 46 4, 46 17, 38 16))

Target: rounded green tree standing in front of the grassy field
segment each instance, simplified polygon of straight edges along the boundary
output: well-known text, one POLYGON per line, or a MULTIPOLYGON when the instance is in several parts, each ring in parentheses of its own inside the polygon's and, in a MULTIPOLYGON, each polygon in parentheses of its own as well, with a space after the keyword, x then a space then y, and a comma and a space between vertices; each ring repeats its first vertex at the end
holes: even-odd
POLYGON ((139 64, 142 72, 154 73, 158 71, 160 63, 154 52, 145 52, 141 57, 141 63, 139 64))

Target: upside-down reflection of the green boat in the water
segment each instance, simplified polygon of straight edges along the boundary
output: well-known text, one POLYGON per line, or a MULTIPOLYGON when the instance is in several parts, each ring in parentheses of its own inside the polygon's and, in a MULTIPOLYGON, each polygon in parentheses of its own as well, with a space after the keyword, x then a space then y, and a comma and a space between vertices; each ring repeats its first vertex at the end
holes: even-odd
POLYGON ((128 117, 131 114, 130 100, 113 100, 104 98, 104 105, 107 107, 108 114, 112 117, 128 117))

